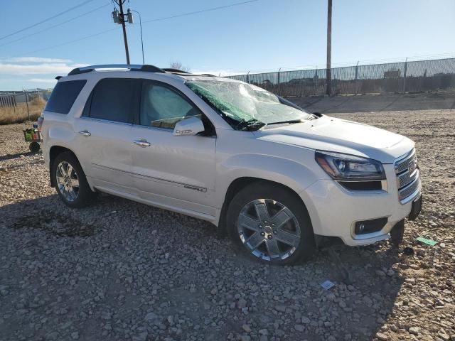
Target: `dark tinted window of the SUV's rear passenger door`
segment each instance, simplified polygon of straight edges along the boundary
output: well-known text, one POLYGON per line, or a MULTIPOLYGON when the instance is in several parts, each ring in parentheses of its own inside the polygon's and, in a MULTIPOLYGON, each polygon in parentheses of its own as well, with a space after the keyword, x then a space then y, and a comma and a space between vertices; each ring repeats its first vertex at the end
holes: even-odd
POLYGON ((83 115, 93 119, 132 123, 139 109, 140 87, 141 80, 137 79, 100 80, 89 97, 91 102, 87 103, 83 115))

